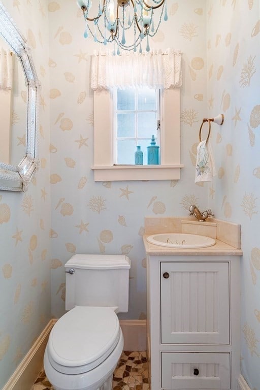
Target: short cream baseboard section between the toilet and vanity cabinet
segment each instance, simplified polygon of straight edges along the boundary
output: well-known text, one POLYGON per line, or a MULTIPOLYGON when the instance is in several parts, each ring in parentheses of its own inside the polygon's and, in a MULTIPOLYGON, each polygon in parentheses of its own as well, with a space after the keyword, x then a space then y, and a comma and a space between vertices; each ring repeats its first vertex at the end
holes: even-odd
POLYGON ((146 351, 146 320, 121 319, 125 351, 146 351))

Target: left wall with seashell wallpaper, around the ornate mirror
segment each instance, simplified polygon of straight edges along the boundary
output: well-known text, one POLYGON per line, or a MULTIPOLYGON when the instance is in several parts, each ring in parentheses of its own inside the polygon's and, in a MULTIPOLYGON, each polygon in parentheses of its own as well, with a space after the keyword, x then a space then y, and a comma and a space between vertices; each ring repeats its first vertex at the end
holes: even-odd
POLYGON ((27 192, 0 191, 0 388, 51 318, 48 10, 43 1, 3 4, 28 40, 42 88, 39 171, 27 192))

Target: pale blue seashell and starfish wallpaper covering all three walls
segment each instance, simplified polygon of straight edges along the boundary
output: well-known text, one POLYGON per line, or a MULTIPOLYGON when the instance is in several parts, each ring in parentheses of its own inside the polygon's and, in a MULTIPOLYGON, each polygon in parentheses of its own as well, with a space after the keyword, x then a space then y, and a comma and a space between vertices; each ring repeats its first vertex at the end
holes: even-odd
POLYGON ((0 193, 0 282, 5 291, 0 295, 0 387, 51 315, 64 313, 63 265, 74 253, 128 255, 129 311, 119 316, 144 319, 144 217, 186 216, 195 203, 211 208, 217 218, 242 224, 241 368, 256 389, 260 382, 259 2, 168 0, 169 21, 161 24, 150 44, 183 53, 184 168, 180 180, 159 182, 93 180, 89 68, 91 53, 98 47, 83 38, 84 21, 76 2, 3 3, 28 39, 42 89, 39 171, 26 193, 0 193), (213 124, 211 132, 217 176, 210 183, 195 184, 202 118, 219 113, 225 115, 224 124, 213 124))

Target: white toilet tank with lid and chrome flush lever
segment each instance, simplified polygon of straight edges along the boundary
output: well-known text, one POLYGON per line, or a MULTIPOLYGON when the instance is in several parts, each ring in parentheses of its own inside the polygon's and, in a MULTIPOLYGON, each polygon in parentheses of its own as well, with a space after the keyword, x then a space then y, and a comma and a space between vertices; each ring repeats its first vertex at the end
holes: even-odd
POLYGON ((75 254, 65 264, 66 310, 74 306, 128 311, 130 259, 124 255, 75 254), (71 273, 69 273, 70 270, 71 273))

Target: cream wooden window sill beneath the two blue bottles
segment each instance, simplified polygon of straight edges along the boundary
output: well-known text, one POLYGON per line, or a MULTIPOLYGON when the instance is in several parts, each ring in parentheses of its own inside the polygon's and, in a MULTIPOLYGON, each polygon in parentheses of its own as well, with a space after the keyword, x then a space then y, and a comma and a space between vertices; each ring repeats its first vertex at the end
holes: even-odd
POLYGON ((183 165, 92 166, 95 181, 179 180, 183 165))

